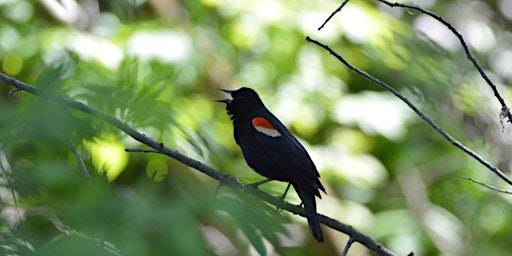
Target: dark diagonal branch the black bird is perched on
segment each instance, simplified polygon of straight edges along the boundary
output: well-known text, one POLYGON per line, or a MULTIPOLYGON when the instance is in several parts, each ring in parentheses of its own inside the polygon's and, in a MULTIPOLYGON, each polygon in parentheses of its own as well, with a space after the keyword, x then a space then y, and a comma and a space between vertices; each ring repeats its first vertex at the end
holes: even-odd
MULTIPOLYGON (((14 86, 16 91, 26 91, 26 92, 41 96, 47 100, 58 103, 64 107, 76 109, 78 111, 90 114, 93 117, 99 118, 99 119, 115 126, 116 128, 118 128, 118 129, 122 130, 123 132, 125 132, 126 134, 128 134, 133 139, 154 149, 154 151, 147 150, 147 151, 143 151, 143 152, 157 152, 160 154, 167 155, 171 158, 176 159, 178 162, 183 163, 184 165, 192 167, 192 168, 210 176, 211 178, 220 181, 225 186, 228 186, 228 187, 240 190, 240 191, 244 191, 244 192, 249 193, 250 195, 257 197, 263 201, 266 201, 272 205, 279 206, 279 207, 281 207, 281 209, 284 209, 288 212, 306 217, 305 211, 302 207, 299 207, 297 205, 290 204, 287 202, 285 202, 284 206, 283 206, 283 201, 280 198, 275 197, 271 194, 268 194, 264 191, 261 191, 254 186, 244 186, 243 184, 238 182, 235 178, 231 177, 230 175, 221 173, 206 164, 203 164, 195 159, 192 159, 186 155, 181 154, 180 152, 178 152, 176 150, 165 147, 163 143, 157 142, 157 141, 149 138, 148 136, 138 132, 137 130, 133 129, 126 123, 122 122, 121 120, 119 120, 113 116, 110 116, 106 113, 103 113, 95 108, 89 107, 89 106, 82 104, 78 101, 74 101, 74 100, 71 100, 71 99, 68 99, 68 98, 65 98, 62 96, 58 96, 52 92, 40 90, 36 87, 33 87, 31 85, 28 85, 26 83, 18 81, 12 77, 9 77, 1 72, 0 72, 0 81, 3 81, 9 85, 14 86)), ((137 151, 137 150, 129 149, 129 151, 137 151)), ((141 151, 138 151, 138 152, 141 152, 141 151)), ((357 242, 361 243, 362 245, 366 246, 368 249, 375 252, 377 255, 389 255, 389 256, 395 255, 393 252, 391 252, 389 249, 387 249, 384 246, 382 246, 381 244, 379 244, 377 241, 375 241, 372 238, 370 238, 369 236, 355 230, 354 228, 352 228, 349 225, 343 224, 333 218, 330 218, 330 217, 322 215, 322 214, 319 214, 318 217, 319 217, 320 222, 323 223, 324 225, 349 235, 350 237, 353 238, 354 241, 357 241, 357 242)))

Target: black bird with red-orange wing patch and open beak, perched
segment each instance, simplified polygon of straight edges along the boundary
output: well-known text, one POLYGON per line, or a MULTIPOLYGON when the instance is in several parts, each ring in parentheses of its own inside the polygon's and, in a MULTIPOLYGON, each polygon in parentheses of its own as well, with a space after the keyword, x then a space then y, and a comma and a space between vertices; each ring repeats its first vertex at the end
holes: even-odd
POLYGON ((233 121, 235 140, 247 164, 270 180, 293 185, 306 209, 313 236, 318 242, 323 242, 315 196, 322 198, 319 189, 325 193, 325 188, 318 179, 320 175, 306 149, 270 113, 254 90, 243 87, 236 91, 222 91, 233 98, 220 102, 227 104, 226 110, 233 121))

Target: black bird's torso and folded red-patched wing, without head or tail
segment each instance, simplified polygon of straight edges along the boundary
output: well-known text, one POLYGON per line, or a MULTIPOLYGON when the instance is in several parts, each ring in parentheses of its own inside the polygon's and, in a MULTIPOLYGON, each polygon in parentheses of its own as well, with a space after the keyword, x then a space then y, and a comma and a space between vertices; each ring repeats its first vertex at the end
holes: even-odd
POLYGON ((302 144, 266 108, 232 116, 235 140, 251 168, 261 175, 287 181, 320 196, 319 174, 302 144), (318 182, 319 183, 319 182, 318 182))

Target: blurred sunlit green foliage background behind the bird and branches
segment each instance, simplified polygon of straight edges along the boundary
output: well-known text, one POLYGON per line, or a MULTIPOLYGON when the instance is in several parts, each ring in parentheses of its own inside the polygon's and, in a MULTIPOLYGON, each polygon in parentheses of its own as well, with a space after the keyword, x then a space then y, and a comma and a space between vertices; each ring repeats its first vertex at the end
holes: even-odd
MULTIPOLYGON (((306 145, 327 187, 318 211, 399 255, 508 255, 505 187, 405 104, 305 36, 409 97, 510 174, 511 131, 446 27, 416 11, 350 1, 0 0, 2 72, 109 113, 229 173, 245 164, 218 88, 255 88, 306 145)), ((464 35, 510 101, 512 0, 409 1, 464 35)), ((222 189, 94 117, 0 91, 2 255, 339 255, 347 237, 222 189), (84 160, 84 176, 70 149, 84 160)), ((279 195, 285 184, 261 187, 279 195)), ((298 203, 295 193, 288 200, 298 203)), ((369 255, 355 245, 349 255, 369 255)))

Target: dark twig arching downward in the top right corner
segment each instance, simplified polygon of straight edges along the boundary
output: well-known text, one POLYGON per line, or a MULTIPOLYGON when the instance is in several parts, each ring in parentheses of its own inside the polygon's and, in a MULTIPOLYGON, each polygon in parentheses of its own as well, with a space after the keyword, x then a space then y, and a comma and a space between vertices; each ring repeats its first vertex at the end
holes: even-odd
POLYGON ((500 114, 506 114, 506 116, 508 117, 508 122, 512 123, 512 113, 510 113, 510 108, 507 106, 507 104, 505 103, 505 100, 501 97, 500 93, 498 92, 498 88, 491 81, 491 79, 487 76, 487 74, 484 72, 484 70, 482 69, 480 64, 478 64, 475 57, 473 57, 473 55, 469 51, 469 47, 466 44, 466 42, 464 41, 464 38, 459 33, 459 31, 457 31, 457 29, 455 29, 455 27, 452 24, 450 24, 448 21, 443 19, 441 16, 439 16, 429 10, 425 10, 419 6, 401 4, 401 3, 391 3, 386 0, 378 0, 378 1, 383 4, 388 5, 390 7, 402 7, 402 8, 408 8, 408 9, 414 9, 414 10, 420 11, 420 12, 434 18, 435 20, 441 22, 443 25, 445 25, 459 39, 462 47, 464 48, 464 52, 466 53, 466 57, 471 61, 471 63, 473 63, 473 66, 475 66, 475 68, 478 70, 478 72, 480 73, 480 76, 482 76, 482 78, 485 80, 485 82, 487 82, 487 84, 491 87, 491 90, 493 91, 494 96, 496 96, 496 98, 498 99, 498 101, 501 104, 500 114))

